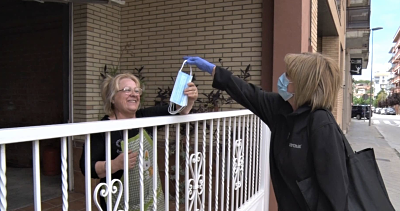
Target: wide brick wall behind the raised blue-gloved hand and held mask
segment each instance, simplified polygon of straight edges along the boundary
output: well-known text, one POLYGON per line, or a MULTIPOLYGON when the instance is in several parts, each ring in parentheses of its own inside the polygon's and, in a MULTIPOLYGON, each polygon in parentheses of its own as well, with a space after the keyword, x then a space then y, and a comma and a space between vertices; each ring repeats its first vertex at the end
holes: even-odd
MULTIPOLYGON (((261 81, 261 0, 127 1, 121 11, 121 67, 144 65, 144 106, 153 106, 157 88, 173 86, 185 55, 201 56, 239 74, 251 64, 251 82, 261 81)), ((185 68, 184 71, 188 71, 185 68)), ((212 78, 194 70, 201 93, 209 93, 212 78)), ((230 105, 230 108, 240 108, 230 105)))

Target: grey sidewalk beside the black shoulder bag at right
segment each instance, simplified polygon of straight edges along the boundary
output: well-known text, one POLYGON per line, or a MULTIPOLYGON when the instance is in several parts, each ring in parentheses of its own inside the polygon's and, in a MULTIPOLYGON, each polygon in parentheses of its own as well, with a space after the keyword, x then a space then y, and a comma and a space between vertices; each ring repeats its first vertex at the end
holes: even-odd
POLYGON ((352 121, 346 138, 355 151, 374 148, 376 161, 395 210, 400 210, 400 154, 368 121, 352 121))

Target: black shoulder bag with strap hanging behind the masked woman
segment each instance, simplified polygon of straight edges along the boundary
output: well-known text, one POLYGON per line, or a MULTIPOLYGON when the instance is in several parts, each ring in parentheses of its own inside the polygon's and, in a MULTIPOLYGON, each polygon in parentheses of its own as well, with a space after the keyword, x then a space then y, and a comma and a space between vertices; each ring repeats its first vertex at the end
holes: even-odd
MULTIPOLYGON (((335 119, 330 111, 325 111, 335 119)), ((348 210, 394 211, 375 160, 374 149, 366 148, 354 152, 337 123, 336 126, 342 135, 342 141, 346 150, 346 168, 349 177, 348 210)))

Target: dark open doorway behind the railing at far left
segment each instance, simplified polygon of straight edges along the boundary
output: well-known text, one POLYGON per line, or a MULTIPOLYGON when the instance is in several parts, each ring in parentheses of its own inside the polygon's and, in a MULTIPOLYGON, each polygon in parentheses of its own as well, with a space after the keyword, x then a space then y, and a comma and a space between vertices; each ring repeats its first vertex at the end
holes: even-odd
MULTIPOLYGON (((68 25, 68 4, 0 2, 0 129, 67 122, 68 25)), ((32 143, 7 144, 6 158, 7 171, 32 167, 32 143)))

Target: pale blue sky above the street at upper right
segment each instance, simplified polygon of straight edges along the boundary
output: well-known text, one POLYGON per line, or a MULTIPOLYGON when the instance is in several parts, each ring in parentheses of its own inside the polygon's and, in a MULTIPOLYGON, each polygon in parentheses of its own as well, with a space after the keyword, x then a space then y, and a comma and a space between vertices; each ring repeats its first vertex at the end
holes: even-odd
MULTIPOLYGON (((393 46, 393 38, 400 27, 400 0, 371 0, 371 29, 383 27, 374 31, 373 72, 386 72, 391 64, 389 59, 390 48, 393 46)), ((367 69, 362 70, 362 75, 353 75, 355 80, 371 80, 371 35, 369 41, 369 62, 367 69)), ((373 74, 374 76, 374 74, 373 74)))

